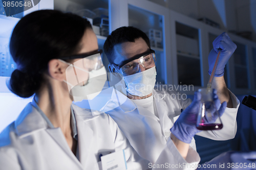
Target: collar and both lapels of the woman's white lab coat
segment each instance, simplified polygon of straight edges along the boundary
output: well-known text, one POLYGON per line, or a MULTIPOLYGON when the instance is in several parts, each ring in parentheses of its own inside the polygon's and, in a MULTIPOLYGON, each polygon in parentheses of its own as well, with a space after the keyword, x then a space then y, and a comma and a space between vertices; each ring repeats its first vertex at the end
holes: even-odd
MULTIPOLYGON (((39 130, 46 130, 46 132, 55 140, 56 143, 71 157, 73 161, 82 164, 83 167, 90 164, 97 163, 96 156, 93 152, 92 139, 93 130, 88 125, 91 119, 97 118, 98 115, 93 116, 92 113, 72 104, 74 115, 77 123, 78 143, 79 143, 79 161, 76 159, 72 151, 69 149, 65 137, 62 135, 60 128, 48 128, 46 120, 40 115, 38 110, 29 103, 22 113, 15 121, 16 133, 19 137, 25 137, 31 133, 38 132, 39 130)), ((82 169, 82 166, 81 169, 82 169)), ((95 167, 92 167, 92 169, 95 167)))

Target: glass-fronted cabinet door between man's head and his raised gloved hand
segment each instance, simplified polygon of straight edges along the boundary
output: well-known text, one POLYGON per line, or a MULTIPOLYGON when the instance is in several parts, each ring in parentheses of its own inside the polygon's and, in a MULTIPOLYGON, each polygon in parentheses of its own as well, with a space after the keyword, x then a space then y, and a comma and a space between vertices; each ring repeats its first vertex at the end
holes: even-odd
POLYGON ((206 60, 202 50, 203 23, 187 16, 169 11, 170 44, 172 62, 169 65, 174 72, 174 85, 192 86, 183 91, 194 94, 194 91, 204 86, 204 65, 206 60), (194 91, 193 91, 194 89, 194 91))

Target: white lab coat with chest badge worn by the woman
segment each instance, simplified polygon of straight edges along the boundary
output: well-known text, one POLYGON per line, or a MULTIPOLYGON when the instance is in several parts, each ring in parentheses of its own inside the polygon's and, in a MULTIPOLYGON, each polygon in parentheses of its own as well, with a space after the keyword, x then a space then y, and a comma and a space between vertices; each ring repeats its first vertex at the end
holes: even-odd
MULTIPOLYGON (((95 170, 101 169, 100 154, 104 156, 123 149, 128 169, 150 169, 149 162, 131 147, 108 114, 93 116, 90 110, 74 104, 72 108, 77 124, 80 162, 70 150, 61 129, 49 128, 46 120, 29 103, 15 122, 0 134, 0 169, 95 170)), ((189 155, 195 155, 194 152, 189 149, 189 155)), ((200 158, 197 154, 196 157, 188 156, 185 161, 172 140, 169 140, 156 163, 168 160, 173 160, 175 164, 198 163, 200 158)))

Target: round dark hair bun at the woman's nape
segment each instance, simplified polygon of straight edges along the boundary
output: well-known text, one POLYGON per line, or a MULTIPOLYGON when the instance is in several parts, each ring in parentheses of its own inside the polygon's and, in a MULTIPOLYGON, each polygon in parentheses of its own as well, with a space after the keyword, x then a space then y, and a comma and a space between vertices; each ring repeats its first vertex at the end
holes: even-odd
POLYGON ((40 88, 41 75, 32 75, 15 69, 12 72, 8 88, 21 98, 29 98, 40 88))

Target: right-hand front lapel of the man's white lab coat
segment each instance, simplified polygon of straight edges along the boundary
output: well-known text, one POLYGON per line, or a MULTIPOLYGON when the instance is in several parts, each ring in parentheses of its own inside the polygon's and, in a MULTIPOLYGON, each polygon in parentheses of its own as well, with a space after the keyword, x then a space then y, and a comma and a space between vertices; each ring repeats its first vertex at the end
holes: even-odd
POLYGON ((160 125, 163 130, 164 136, 168 137, 170 134, 170 128, 173 127, 172 121, 169 119, 168 114, 167 114, 167 106, 166 102, 164 100, 164 94, 159 95, 156 90, 153 90, 153 97, 154 97, 154 102, 155 106, 157 109, 157 113, 159 116, 160 120, 160 125))

